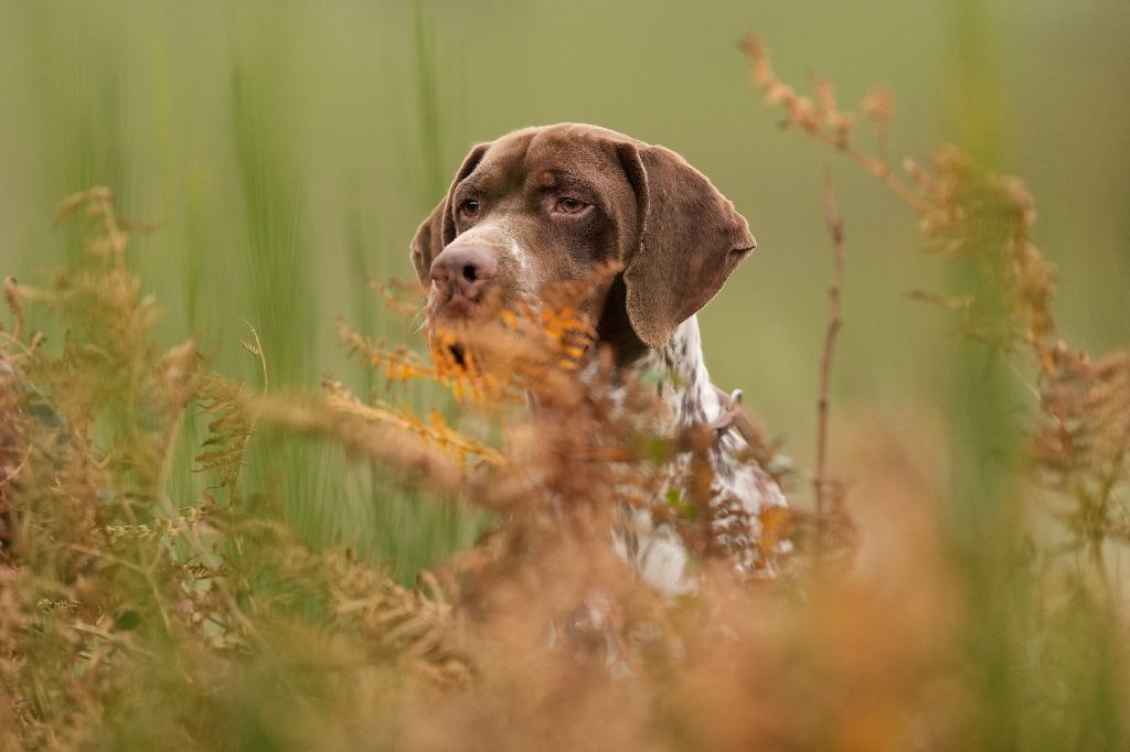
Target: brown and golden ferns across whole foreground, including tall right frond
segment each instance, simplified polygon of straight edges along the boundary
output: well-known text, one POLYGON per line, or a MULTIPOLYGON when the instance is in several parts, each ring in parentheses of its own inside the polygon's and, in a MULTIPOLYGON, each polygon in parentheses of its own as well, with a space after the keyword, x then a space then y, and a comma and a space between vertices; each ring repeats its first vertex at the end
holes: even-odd
MULTIPOLYGON (((507 317, 461 364, 442 336, 429 362, 339 324, 386 381, 451 388, 466 405, 459 426, 358 399, 331 376, 322 395, 255 393, 211 374, 192 341, 159 352, 154 301, 127 263, 136 229, 96 189, 64 204, 85 226, 81 265, 45 289, 6 286, 0 724, 15 731, 2 744, 1123 747, 1121 598, 1104 552, 1128 539, 1130 359, 1090 360, 1059 340, 1054 274, 1018 181, 949 148, 897 177, 888 93, 845 113, 829 82, 800 96, 756 40, 746 49, 785 124, 890 186, 931 247, 975 259, 974 289, 936 299, 974 339, 1029 353, 1041 399, 1019 474, 1033 507, 1062 508, 1066 544, 1006 550, 1005 570, 970 577, 940 521, 945 421, 860 417, 828 445, 854 469, 857 556, 812 556, 798 524, 788 577, 739 582, 711 556, 705 427, 663 436, 653 390, 609 364, 579 381, 583 286, 507 317), (866 117, 876 154, 853 141, 866 117), (27 306, 54 312, 58 341, 26 330, 27 306), (175 428, 194 410, 210 423, 197 454, 214 484, 169 498, 175 428), (405 589, 280 522, 271 489, 241 474, 261 431, 333 440, 390 469, 390 482, 492 510, 495 525, 405 589), (687 492, 666 514, 702 574, 694 595, 668 602, 626 570, 608 530, 672 473, 687 492), (1079 552, 1097 588, 1064 567, 1079 552)), ((249 350, 269 370, 270 352, 249 350)))

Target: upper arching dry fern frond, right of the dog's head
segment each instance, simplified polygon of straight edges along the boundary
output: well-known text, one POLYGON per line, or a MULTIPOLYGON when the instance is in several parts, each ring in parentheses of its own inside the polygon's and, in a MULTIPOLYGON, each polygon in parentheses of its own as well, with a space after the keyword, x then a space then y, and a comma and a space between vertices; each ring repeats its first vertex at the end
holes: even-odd
POLYGON ((837 108, 828 81, 816 78, 818 104, 814 104, 777 78, 756 36, 747 36, 742 45, 766 103, 785 112, 782 125, 799 126, 845 154, 915 209, 929 251, 974 261, 977 279, 974 289, 962 296, 968 308, 960 330, 997 348, 1031 348, 1043 375, 1053 376, 1055 269, 1032 241, 1035 210, 1024 183, 985 170, 951 146, 935 154, 929 169, 904 160, 909 181, 903 180, 890 168, 887 155, 894 99, 889 89, 872 89, 860 105, 878 139, 875 155, 853 142, 860 117, 837 108))

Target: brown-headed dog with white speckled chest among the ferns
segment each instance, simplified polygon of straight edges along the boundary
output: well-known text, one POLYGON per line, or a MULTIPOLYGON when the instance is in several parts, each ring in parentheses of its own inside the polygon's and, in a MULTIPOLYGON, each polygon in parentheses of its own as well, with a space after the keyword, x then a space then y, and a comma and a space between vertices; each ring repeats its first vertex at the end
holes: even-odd
MULTIPOLYGON (((659 392, 677 429, 729 425, 734 405, 710 383, 695 314, 755 245, 733 204, 673 151, 564 123, 471 149, 417 230, 411 260, 433 325, 477 325, 493 311, 488 297, 536 308, 542 286, 623 264, 582 313, 619 368, 666 375, 659 392)), ((713 456, 712 534, 739 570, 763 571, 762 516, 784 498, 760 467, 734 458, 741 445, 723 431, 713 456)), ((638 522, 625 558, 662 592, 685 591, 678 536, 638 522)))

